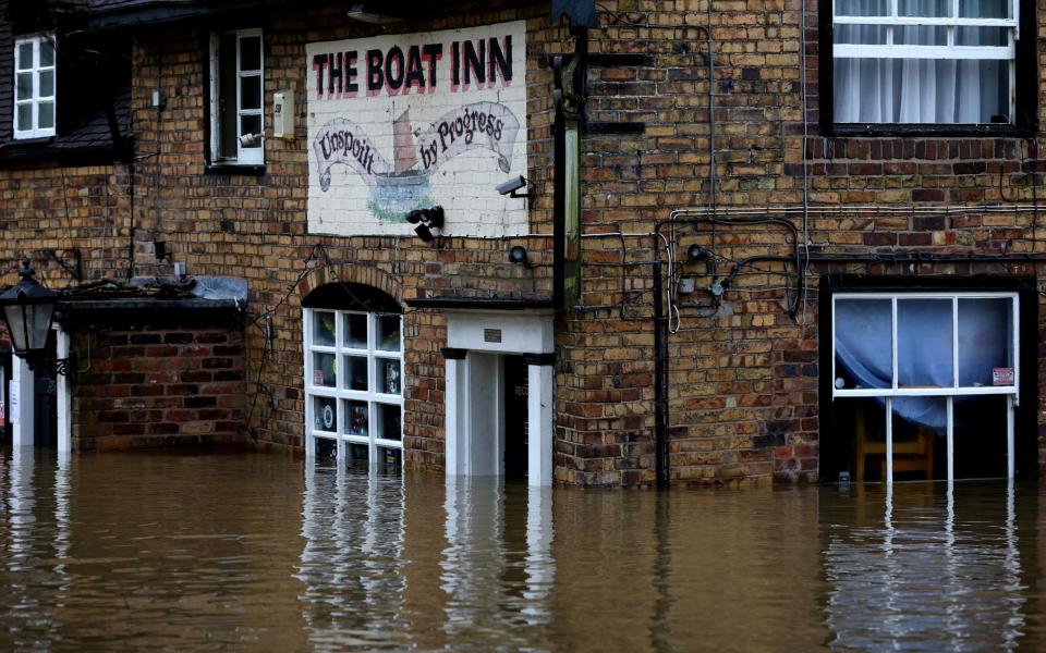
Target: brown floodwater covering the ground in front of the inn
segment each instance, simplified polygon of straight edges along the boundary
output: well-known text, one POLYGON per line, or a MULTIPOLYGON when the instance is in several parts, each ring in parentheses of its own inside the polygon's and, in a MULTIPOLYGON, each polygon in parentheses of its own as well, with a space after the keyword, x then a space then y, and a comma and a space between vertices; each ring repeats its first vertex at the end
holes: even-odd
POLYGON ((0 650, 1042 650, 1044 506, 5 452, 0 650))

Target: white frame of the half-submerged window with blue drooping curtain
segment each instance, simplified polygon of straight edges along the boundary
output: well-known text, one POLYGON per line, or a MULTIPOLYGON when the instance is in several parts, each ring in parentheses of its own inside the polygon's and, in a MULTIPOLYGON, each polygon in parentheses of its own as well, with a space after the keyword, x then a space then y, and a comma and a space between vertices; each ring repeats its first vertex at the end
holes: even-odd
POLYGON ((1007 478, 1014 475, 1014 435, 1013 410, 1020 405, 1021 350, 1020 350, 1020 298, 1017 293, 836 293, 831 297, 831 398, 883 397, 886 419, 886 482, 893 482, 893 397, 945 397, 947 402, 948 423, 948 481, 954 480, 954 423, 953 399, 957 396, 1006 396, 1006 460, 1007 478), (840 299, 889 299, 891 306, 891 386, 890 387, 836 387, 836 303, 840 299), (951 370, 952 385, 948 387, 903 387, 898 385, 897 364, 897 303, 904 299, 951 299, 951 370), (1010 299, 1012 329, 1011 347, 1013 353, 1013 385, 962 386, 959 385, 959 299, 1010 299))

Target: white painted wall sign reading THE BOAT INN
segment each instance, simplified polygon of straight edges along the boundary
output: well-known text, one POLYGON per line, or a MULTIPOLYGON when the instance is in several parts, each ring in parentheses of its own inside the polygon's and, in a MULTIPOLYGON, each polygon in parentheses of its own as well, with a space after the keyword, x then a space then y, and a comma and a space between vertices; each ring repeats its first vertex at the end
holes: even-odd
POLYGON ((308 231, 526 234, 526 200, 495 186, 526 175, 523 21, 306 46, 308 231))

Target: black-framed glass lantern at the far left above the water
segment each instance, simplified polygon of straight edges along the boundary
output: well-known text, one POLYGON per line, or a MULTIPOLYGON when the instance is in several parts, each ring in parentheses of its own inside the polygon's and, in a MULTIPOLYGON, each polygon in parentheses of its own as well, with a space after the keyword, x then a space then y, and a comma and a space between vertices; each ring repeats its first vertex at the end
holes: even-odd
POLYGON ((22 259, 22 266, 19 283, 0 293, 0 306, 3 307, 3 321, 11 334, 14 355, 33 369, 44 356, 58 293, 36 281, 28 258, 22 259))

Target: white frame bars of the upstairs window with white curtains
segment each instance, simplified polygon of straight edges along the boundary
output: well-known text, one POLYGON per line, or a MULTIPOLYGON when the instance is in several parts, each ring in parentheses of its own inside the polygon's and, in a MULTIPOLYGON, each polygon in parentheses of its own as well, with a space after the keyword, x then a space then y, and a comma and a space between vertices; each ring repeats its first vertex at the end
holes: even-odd
MULTIPOLYGON (((928 16, 899 16, 897 4, 899 0, 887 0, 890 14, 886 16, 841 16, 837 13, 837 0, 831 2, 832 23, 835 25, 885 25, 886 44, 856 45, 832 42, 834 59, 995 59, 1009 61, 1010 84, 1010 123, 1014 120, 1017 89, 1017 40, 1020 38, 1020 3, 1021 0, 1010 0, 1011 19, 960 19, 959 2, 951 0, 952 17, 928 16), (944 46, 895 45, 893 27, 902 26, 937 26, 947 27, 948 42, 944 46), (958 27, 1007 27, 1006 46, 957 46, 956 28, 958 27)), ((835 84, 832 79, 832 84, 835 84)), ((892 124, 892 123, 881 123, 892 124)), ((950 124, 950 123, 949 123, 950 124)), ((961 124, 961 123, 958 123, 961 124)))

